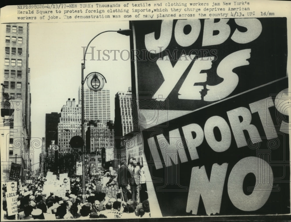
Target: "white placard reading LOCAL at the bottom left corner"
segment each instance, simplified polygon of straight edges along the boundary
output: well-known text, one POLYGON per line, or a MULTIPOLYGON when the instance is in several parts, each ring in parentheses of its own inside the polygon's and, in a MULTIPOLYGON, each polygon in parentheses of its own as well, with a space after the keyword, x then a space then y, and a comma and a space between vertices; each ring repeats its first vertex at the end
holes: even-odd
POLYGON ((17 182, 6 182, 7 192, 6 192, 6 201, 7 201, 7 212, 8 216, 18 214, 17 206, 17 182))

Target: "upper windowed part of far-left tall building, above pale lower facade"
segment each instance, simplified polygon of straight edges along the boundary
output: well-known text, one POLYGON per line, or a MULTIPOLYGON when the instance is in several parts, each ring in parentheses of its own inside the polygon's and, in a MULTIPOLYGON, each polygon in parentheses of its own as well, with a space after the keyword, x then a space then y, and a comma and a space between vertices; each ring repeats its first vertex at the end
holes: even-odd
POLYGON ((31 135, 31 96, 29 57, 29 24, 9 23, 2 25, 5 40, 2 41, 4 55, 3 87, 11 99, 22 100, 27 136, 31 135))

